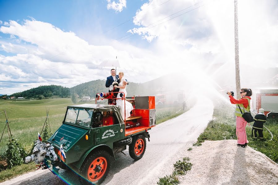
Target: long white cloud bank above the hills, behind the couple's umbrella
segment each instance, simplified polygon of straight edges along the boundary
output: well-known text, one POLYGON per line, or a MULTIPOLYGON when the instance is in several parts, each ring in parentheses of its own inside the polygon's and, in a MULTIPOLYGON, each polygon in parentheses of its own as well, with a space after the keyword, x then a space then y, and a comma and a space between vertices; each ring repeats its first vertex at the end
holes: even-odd
MULTIPOLYGON (((18 87, 16 92, 32 88, 37 83, 72 87, 105 79, 110 75, 109 67, 102 68, 99 64, 115 56, 122 67, 117 71, 126 72, 129 81, 148 81, 155 74, 148 68, 145 71, 152 77, 138 78, 145 68, 142 64, 154 65, 158 59, 151 52, 129 44, 112 41, 110 46, 91 45, 73 32, 36 20, 25 20, 23 24, 10 21, 9 26, 0 27, 0 31, 12 35, 9 40, 0 40, 0 50, 16 53, 15 56, 0 57, 0 74, 2 79, 14 82, 18 87), (14 42, 16 39, 21 42, 14 42), (21 86, 22 83, 25 85, 21 86)), ((11 92, 14 89, 11 83, 2 82, 0 86, 6 93, 14 93, 11 92)))

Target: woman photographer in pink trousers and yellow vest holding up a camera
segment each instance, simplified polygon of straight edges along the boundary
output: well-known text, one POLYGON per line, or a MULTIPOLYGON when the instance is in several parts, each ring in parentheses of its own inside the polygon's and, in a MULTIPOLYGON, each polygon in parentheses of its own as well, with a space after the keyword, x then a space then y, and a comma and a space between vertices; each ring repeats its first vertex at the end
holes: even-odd
POLYGON ((236 100, 232 96, 232 92, 227 92, 232 104, 236 104, 236 135, 237 135, 237 146, 245 147, 247 146, 248 140, 246 135, 245 127, 247 121, 242 117, 242 113, 247 113, 250 111, 250 100, 252 96, 252 90, 248 88, 240 89, 241 98, 236 100), (241 110, 241 111, 240 111, 241 110))

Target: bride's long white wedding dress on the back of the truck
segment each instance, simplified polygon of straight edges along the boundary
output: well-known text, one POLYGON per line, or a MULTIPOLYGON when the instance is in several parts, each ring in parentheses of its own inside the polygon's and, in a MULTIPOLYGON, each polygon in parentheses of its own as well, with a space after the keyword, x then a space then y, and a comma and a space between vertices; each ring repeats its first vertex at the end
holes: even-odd
MULTIPOLYGON (((123 81, 126 81, 126 80, 122 78, 122 81, 119 83, 118 86, 123 86, 123 84, 122 84, 123 81)), ((126 88, 120 88, 119 92, 124 92, 125 97, 127 96, 126 88)), ((121 93, 118 93, 117 98, 121 98, 120 94, 121 93)), ((121 106, 120 111, 121 111, 121 115, 122 115, 123 120, 125 120, 125 103, 126 103, 126 118, 128 118, 128 117, 130 117, 130 111, 133 110, 132 104, 129 103, 128 101, 126 101, 126 100, 122 100, 122 99, 116 100, 116 105, 121 106)))

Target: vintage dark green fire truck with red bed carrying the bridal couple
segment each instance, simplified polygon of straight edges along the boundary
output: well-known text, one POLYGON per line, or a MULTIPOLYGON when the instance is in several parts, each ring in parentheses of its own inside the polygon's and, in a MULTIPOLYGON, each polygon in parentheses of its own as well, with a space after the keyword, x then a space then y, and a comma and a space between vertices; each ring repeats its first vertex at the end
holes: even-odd
MULTIPOLYGON (((121 93, 121 92, 119 92, 121 93)), ((120 98, 126 99, 124 93, 120 98)), ((122 118, 120 106, 112 93, 98 93, 96 103, 68 106, 61 127, 48 143, 35 141, 32 155, 25 162, 41 163, 54 174, 71 168, 79 174, 82 184, 100 184, 109 172, 115 154, 129 146, 130 157, 139 160, 146 150, 148 130, 156 125, 155 97, 130 97, 134 109, 127 119, 122 118), (114 124, 100 126, 103 112, 110 112, 114 124)), ((118 98, 119 99, 119 98, 118 98)), ((150 140, 149 140, 150 141, 150 140)))

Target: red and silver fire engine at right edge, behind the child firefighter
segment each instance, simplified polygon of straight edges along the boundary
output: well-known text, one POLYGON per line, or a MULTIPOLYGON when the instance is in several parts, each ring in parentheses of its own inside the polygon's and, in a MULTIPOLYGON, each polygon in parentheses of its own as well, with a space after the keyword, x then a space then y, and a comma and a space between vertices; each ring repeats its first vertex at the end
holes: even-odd
POLYGON ((251 108, 259 113, 263 108, 266 117, 278 118, 278 89, 258 89, 253 91, 251 108))

